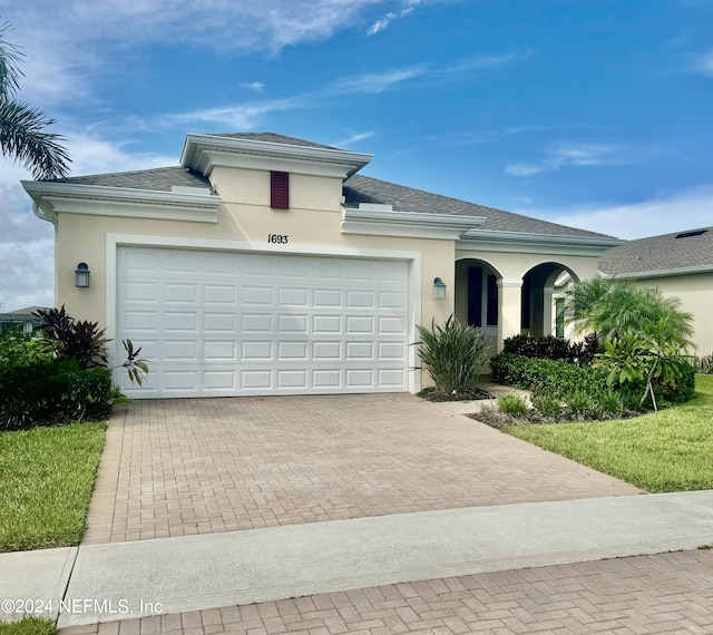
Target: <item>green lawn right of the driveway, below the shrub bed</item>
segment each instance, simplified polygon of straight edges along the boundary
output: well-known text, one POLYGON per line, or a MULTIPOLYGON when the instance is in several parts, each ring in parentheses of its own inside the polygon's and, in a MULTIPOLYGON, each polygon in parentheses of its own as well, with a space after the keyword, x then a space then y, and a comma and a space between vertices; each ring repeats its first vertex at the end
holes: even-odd
POLYGON ((635 419, 502 431, 648 491, 713 489, 712 375, 692 401, 635 419))

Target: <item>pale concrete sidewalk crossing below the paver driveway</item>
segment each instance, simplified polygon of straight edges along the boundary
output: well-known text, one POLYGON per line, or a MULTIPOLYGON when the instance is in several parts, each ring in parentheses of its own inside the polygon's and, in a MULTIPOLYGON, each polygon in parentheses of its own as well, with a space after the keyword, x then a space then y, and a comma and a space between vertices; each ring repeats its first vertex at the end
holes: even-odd
POLYGON ((517 504, 3 554, 0 597, 71 626, 711 544, 713 490, 517 504))

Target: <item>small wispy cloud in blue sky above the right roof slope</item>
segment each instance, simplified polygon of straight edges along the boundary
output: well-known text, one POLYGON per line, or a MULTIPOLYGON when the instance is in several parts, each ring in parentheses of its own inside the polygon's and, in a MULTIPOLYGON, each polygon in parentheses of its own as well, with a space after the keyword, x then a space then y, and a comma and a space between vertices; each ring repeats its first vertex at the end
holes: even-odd
POLYGON ((505 172, 511 176, 531 176, 566 167, 632 165, 647 160, 652 150, 614 144, 558 144, 534 163, 511 163, 505 172))

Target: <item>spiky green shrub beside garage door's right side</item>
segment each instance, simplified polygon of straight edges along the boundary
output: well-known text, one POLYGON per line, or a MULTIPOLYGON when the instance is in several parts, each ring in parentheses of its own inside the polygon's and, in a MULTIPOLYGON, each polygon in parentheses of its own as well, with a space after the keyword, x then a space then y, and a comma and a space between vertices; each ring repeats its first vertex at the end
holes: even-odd
POLYGON ((443 326, 418 326, 423 370, 441 392, 471 392, 488 360, 488 339, 480 329, 451 315, 443 326))

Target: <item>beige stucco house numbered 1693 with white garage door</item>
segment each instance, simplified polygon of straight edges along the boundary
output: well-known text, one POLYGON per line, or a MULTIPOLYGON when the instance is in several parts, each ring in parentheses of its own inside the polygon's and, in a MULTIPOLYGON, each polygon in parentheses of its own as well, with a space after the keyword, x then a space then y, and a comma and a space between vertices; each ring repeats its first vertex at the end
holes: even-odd
POLYGON ((150 358, 141 388, 117 375, 134 397, 414 392, 417 324, 550 332, 555 279, 621 244, 358 175, 371 158, 188 135, 180 167, 23 186, 56 228, 56 302, 150 358))

